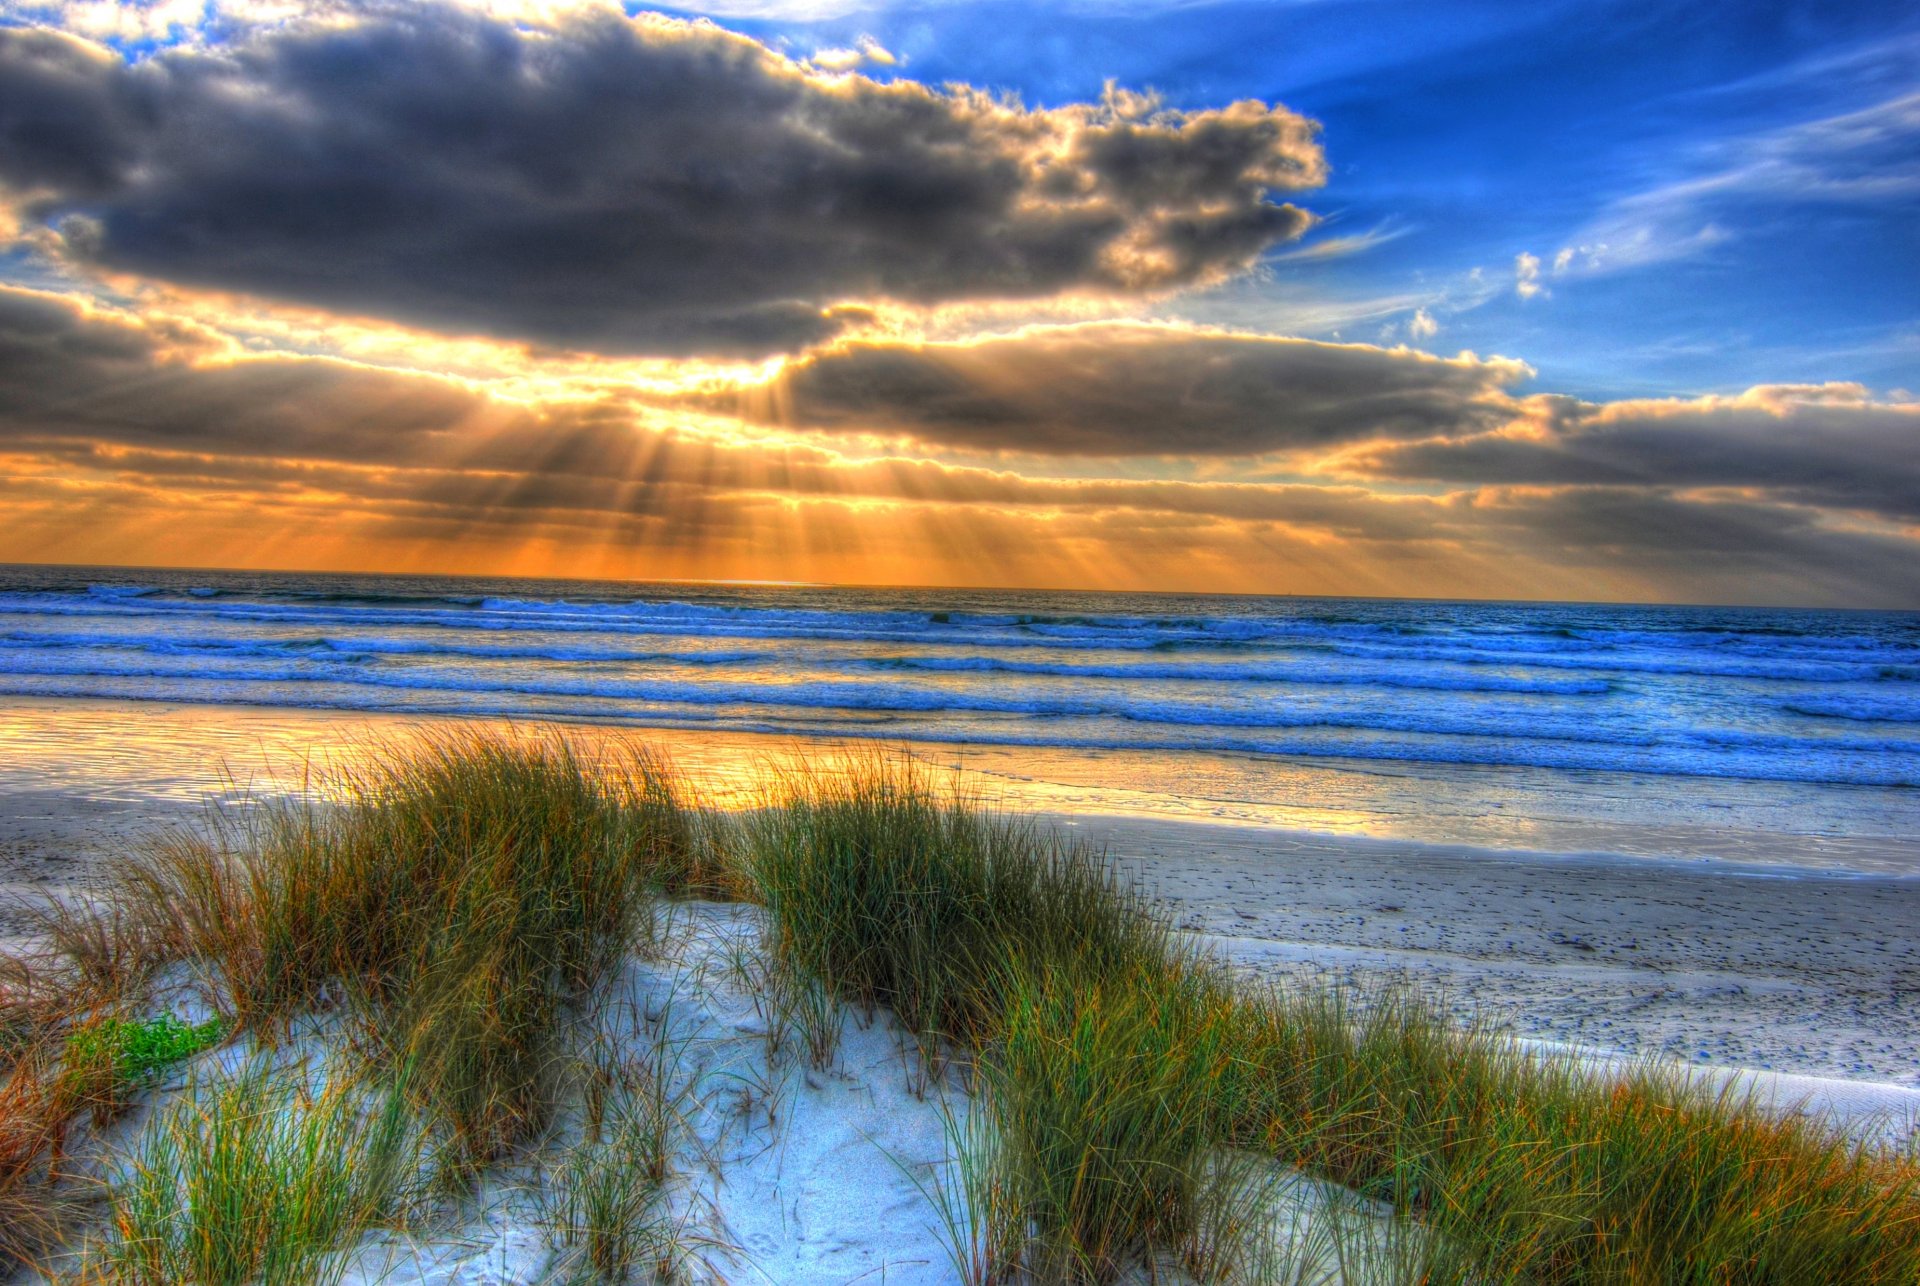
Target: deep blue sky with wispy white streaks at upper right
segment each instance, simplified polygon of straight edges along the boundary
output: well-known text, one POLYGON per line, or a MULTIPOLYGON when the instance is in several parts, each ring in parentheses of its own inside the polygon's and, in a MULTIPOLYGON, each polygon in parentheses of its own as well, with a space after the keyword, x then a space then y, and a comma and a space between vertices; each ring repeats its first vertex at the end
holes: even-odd
POLYGON ((1920 384, 1920 6, 708 12, 799 52, 872 36, 902 58, 897 75, 1033 106, 1114 79, 1177 107, 1261 98, 1315 117, 1323 223, 1269 257, 1267 280, 1183 299, 1198 321, 1348 340, 1392 322, 1392 338, 1434 351, 1523 357, 1540 386, 1586 397, 1920 384), (1839 138, 1847 117, 1860 119, 1839 138), (1365 248, 1294 253, 1334 238, 1365 248), (1611 255, 1578 255, 1603 240, 1611 255), (1576 257, 1555 274, 1565 248, 1576 257), (1524 299, 1521 253, 1542 259, 1544 290, 1524 299), (1421 305, 1430 338, 1405 332, 1421 305))

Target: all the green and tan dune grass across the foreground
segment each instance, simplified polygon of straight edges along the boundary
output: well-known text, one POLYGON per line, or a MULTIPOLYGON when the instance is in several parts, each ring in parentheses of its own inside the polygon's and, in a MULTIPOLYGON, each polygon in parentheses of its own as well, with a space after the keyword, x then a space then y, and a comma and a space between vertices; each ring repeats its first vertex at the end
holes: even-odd
MULTIPOLYGON (((1298 1175, 1392 1211, 1380 1236, 1334 1238, 1352 1280, 1920 1280, 1912 1157, 1674 1073, 1532 1058, 1419 996, 1238 985, 1100 854, 906 756, 781 770, 732 823, 643 752, 593 762, 555 735, 442 735, 357 764, 315 798, 131 864, 102 904, 50 914, 65 964, 0 975, 19 1033, 0 1205, 42 1190, 33 1177, 77 1111, 60 1050, 123 1042, 75 1033, 121 1033, 100 996, 169 960, 202 962, 232 1023, 265 1042, 344 1008, 371 1069, 405 1073, 449 1173, 488 1165, 538 1140, 572 1092, 582 1015, 649 948, 657 896, 691 894, 764 904, 770 1056, 791 1027, 826 1061, 837 1006, 885 1008, 918 1035, 929 1084, 952 1067, 973 1092, 952 1140, 962 1175, 937 1184, 972 1282, 1175 1265, 1319 1280, 1323 1259, 1273 1253, 1298 1175)), ((326 1157, 328 1140, 372 1146, 353 1131, 388 1106, 286 1100, 248 1117, 232 1092, 192 1096, 138 1154, 115 1196, 129 1280, 307 1271, 382 1207, 388 1180, 355 1188, 326 1157), (315 1213, 275 1213, 255 1184, 305 1192, 315 1213), (188 1192, 232 1232, 157 1232, 188 1192)), ((603 1100, 603 1129, 557 1173, 551 1225, 586 1276, 657 1253, 668 1125, 649 1102, 603 1100)), ((1365 1219, 1340 1215, 1336 1232, 1365 1219)))

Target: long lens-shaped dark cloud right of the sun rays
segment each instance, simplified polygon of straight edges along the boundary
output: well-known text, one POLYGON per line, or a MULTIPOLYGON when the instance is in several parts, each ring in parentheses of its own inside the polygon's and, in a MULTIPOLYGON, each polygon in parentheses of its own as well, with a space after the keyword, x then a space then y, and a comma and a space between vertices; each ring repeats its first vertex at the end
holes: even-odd
POLYGON ((849 342, 701 401, 793 428, 1037 455, 1261 455, 1478 434, 1511 418, 1505 388, 1526 374, 1501 359, 1100 322, 849 342))

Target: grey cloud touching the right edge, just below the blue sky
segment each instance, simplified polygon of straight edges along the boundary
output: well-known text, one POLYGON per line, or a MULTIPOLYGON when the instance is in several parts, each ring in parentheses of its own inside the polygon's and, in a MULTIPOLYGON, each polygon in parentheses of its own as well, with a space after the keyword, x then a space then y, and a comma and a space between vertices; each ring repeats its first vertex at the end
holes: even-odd
POLYGON ((1375 478, 1450 484, 1743 488, 1822 509, 1920 520, 1920 405, 1857 386, 1763 386, 1740 397, 1542 399, 1532 432, 1384 445, 1375 478))

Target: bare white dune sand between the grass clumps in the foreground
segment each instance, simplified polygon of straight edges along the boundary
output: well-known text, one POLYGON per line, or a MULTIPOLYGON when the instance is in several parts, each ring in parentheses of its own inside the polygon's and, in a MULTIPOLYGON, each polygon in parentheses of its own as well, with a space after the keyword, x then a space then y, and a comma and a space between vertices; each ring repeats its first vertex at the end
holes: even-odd
MULTIPOLYGON (((910 1090, 900 1033, 843 1013, 826 1071, 787 1046, 770 1063, 766 1017, 735 962, 758 950, 758 912, 676 908, 674 946, 634 960, 603 1029, 678 1050, 685 1136, 666 1211, 695 1251, 695 1282, 952 1282, 925 1182, 947 1155, 933 1098, 910 1090)), ((964 1111, 964 1102, 960 1106, 964 1111)), ((526 1188, 501 1184, 440 1236, 371 1238, 346 1286, 520 1286, 549 1278, 526 1188)))

